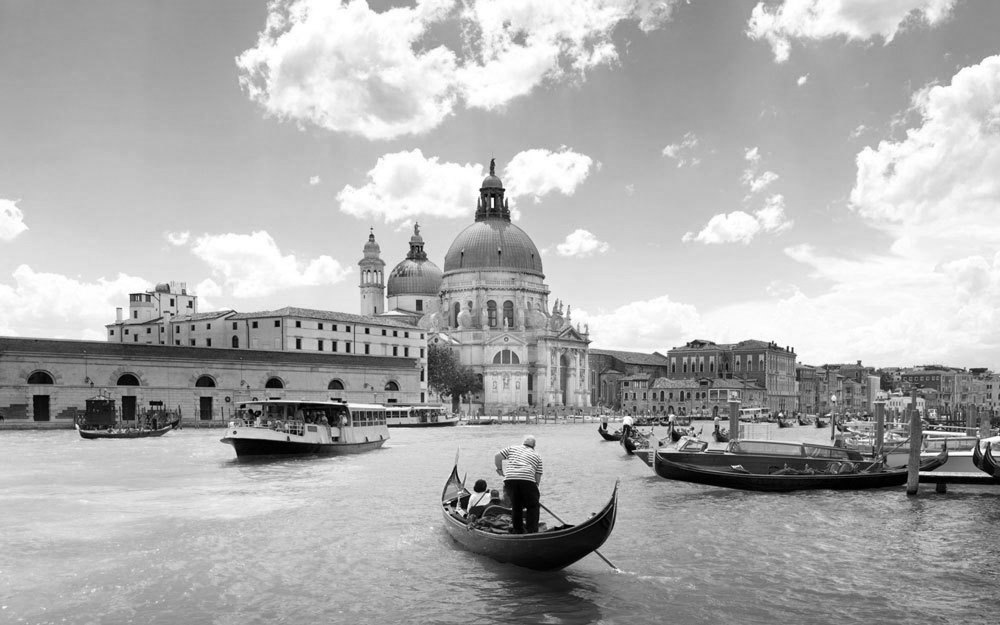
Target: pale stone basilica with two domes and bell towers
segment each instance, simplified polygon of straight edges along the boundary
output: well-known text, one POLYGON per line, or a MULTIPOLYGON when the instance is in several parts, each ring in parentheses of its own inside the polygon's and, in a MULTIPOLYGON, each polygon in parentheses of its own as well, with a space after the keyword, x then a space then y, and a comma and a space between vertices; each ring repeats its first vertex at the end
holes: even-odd
POLYGON ((428 260, 420 226, 410 251, 388 278, 374 233, 358 263, 361 314, 409 317, 428 344, 448 345, 483 379, 473 410, 590 405, 588 330, 573 325, 569 306, 549 307, 542 259, 528 234, 510 221, 503 183, 490 161, 476 221, 445 254, 444 271, 428 260))

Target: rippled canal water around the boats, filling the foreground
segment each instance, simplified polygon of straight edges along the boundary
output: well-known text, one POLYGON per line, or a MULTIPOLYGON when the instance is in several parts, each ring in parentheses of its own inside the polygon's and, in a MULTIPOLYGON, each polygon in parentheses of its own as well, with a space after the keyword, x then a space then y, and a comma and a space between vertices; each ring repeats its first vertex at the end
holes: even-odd
POLYGON ((250 463, 220 430, 0 432, 0 623, 996 622, 998 487, 689 485, 595 430, 394 429, 368 454, 250 463), (470 484, 494 485, 493 454, 526 433, 545 463, 542 502, 567 522, 621 480, 601 553, 624 572, 591 555, 536 573, 445 533, 438 502, 456 454, 470 484))

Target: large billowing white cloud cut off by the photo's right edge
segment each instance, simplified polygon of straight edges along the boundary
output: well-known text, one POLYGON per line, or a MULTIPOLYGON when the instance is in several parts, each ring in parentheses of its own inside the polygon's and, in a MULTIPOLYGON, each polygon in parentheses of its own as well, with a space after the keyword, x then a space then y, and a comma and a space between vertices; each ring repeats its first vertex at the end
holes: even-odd
POLYGON ((851 206, 902 254, 939 260, 1000 247, 1000 56, 919 91, 920 126, 857 156, 851 206))

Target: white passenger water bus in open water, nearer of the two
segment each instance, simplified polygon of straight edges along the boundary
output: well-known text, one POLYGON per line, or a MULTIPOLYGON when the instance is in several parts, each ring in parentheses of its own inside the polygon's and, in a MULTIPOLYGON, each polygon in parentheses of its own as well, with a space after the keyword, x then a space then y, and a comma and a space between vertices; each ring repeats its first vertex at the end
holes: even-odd
POLYGON ((357 454, 389 440, 379 404, 265 399, 241 404, 237 414, 221 439, 237 458, 357 454))

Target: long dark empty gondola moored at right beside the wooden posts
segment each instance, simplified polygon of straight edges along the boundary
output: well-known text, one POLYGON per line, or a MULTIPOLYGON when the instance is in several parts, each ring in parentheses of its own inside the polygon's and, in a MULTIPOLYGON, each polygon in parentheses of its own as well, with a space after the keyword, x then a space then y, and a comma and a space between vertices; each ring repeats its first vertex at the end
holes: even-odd
MULTIPOLYGON (((921 471, 933 471, 948 460, 948 450, 920 463, 921 471)), ((908 469, 884 469, 881 465, 870 465, 864 471, 850 471, 853 463, 843 463, 840 467, 830 467, 826 472, 807 473, 790 469, 779 469, 774 473, 750 473, 739 465, 728 467, 707 467, 683 462, 672 462, 655 454, 653 459, 656 474, 668 480, 693 482, 709 486, 722 486, 740 490, 791 492, 796 490, 864 490, 902 486, 906 483, 908 469)))

